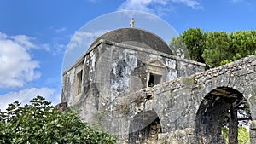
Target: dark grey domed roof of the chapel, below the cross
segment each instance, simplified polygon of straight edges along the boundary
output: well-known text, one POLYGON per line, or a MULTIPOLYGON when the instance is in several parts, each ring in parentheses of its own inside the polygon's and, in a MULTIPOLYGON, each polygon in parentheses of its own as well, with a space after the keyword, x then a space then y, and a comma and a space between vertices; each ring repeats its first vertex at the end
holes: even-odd
POLYGON ((152 32, 137 28, 121 28, 107 32, 91 44, 94 45, 98 40, 106 39, 116 43, 125 43, 132 46, 154 49, 169 55, 172 55, 171 49, 166 42, 152 32))

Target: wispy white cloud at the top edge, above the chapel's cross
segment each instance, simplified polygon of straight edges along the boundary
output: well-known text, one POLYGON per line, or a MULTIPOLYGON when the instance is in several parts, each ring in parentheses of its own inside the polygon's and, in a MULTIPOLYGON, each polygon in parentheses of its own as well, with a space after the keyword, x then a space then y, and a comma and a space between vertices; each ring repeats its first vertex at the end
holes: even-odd
POLYGON ((192 9, 202 9, 201 4, 195 0, 126 0, 118 9, 163 15, 172 9, 173 3, 183 3, 192 9))

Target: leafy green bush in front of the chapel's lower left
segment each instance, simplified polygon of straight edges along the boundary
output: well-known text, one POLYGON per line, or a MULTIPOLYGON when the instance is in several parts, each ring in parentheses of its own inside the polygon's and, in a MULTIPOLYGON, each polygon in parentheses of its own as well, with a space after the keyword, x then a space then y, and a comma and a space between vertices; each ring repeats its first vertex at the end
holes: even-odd
POLYGON ((0 143, 116 143, 108 133, 93 130, 79 118, 73 108, 57 110, 41 96, 29 105, 19 101, 9 104, 7 112, 0 111, 0 143))

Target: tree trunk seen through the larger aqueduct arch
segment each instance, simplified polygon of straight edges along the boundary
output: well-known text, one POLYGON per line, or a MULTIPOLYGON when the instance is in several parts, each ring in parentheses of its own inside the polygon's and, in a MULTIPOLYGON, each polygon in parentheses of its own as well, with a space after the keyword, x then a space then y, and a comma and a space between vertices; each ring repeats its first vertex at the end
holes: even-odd
POLYGON ((234 109, 233 105, 230 106, 230 125, 229 125, 229 144, 238 144, 238 120, 237 110, 234 109))

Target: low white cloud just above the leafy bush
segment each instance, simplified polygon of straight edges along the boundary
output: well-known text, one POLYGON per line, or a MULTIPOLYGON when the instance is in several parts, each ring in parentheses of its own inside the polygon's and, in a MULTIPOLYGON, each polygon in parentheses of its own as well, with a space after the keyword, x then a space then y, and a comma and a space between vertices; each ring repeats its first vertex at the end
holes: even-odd
MULTIPOLYGON (((31 88, 31 89, 23 89, 18 92, 10 92, 5 95, 0 95, 0 109, 4 111, 9 103, 14 101, 20 101, 22 105, 29 103, 32 98, 36 97, 37 95, 43 96, 47 101, 52 100, 52 97, 55 96, 55 89, 49 88, 31 88)), ((57 95, 60 96, 60 95, 57 95)), ((59 98, 56 98, 53 102, 59 101, 59 98)))

